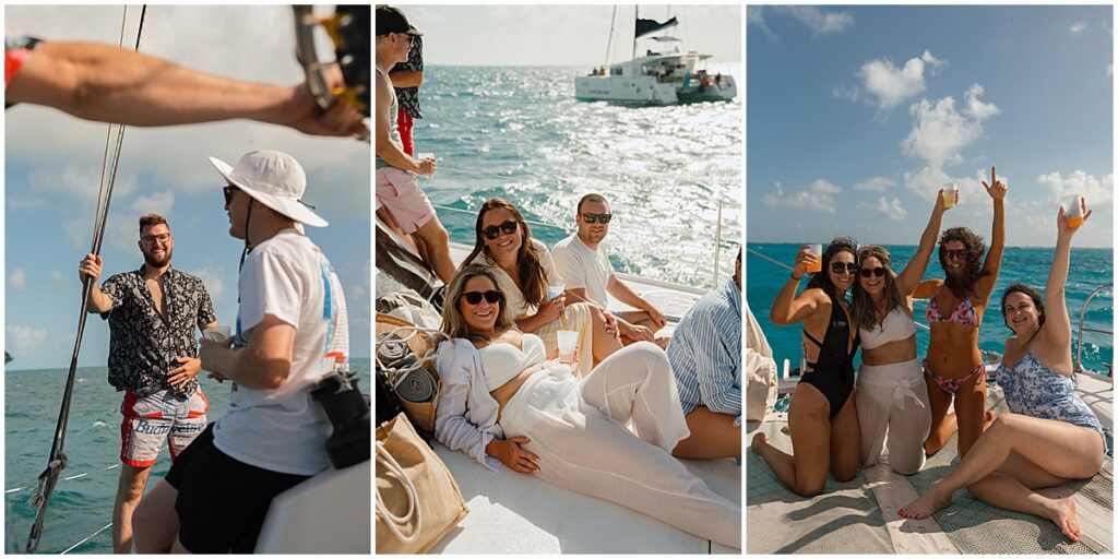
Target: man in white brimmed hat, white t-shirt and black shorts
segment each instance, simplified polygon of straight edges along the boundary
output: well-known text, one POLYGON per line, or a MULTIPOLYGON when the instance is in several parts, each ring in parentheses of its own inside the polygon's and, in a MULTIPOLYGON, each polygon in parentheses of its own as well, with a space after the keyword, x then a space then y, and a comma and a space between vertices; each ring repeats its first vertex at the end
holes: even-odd
POLYGON ((202 367, 233 381, 229 409, 140 503, 139 552, 252 552, 272 498, 330 466, 331 425, 311 389, 349 353, 345 300, 325 255, 296 224, 325 227, 302 202, 291 155, 210 158, 226 181, 229 235, 245 239, 236 335, 202 340, 202 367))

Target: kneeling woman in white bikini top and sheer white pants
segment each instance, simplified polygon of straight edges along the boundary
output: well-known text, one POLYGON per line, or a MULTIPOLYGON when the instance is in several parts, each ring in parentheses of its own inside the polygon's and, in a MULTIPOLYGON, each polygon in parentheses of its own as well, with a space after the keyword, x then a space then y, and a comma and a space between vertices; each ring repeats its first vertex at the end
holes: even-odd
POLYGON ((900 275, 889 266, 889 250, 858 249, 859 277, 851 315, 862 342, 858 370, 858 424, 862 429, 862 467, 878 462, 889 434, 889 465, 910 475, 923 467, 923 442, 931 430, 928 387, 916 358, 912 293, 928 269, 944 219, 944 191, 936 197, 920 246, 900 275))

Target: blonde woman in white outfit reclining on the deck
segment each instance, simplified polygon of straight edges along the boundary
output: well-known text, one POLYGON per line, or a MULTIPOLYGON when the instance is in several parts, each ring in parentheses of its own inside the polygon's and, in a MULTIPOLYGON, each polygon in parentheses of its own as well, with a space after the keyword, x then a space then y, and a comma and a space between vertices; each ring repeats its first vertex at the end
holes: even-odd
POLYGON ((493 268, 471 265, 447 287, 435 437, 492 470, 500 462, 740 549, 741 506, 671 455, 690 433, 663 350, 637 342, 576 378, 577 363, 548 360, 556 352, 515 328, 499 286, 493 268))

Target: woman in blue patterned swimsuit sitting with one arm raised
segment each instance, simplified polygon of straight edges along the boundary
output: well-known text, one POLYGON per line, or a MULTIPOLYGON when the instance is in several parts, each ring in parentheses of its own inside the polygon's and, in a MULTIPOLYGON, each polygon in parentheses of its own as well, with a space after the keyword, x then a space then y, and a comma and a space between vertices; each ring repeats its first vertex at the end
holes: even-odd
POLYGON ((958 467, 901 509, 901 517, 928 518, 966 486, 994 506, 1044 517, 1079 541, 1071 498, 1052 499, 1034 491, 1093 476, 1106 452, 1099 419, 1071 381, 1071 321, 1064 285, 1074 233, 1061 209, 1043 303, 1040 294, 1021 284, 1011 285, 1002 296, 1005 323, 1015 335, 1005 342, 997 382, 1012 413, 999 415, 958 467))

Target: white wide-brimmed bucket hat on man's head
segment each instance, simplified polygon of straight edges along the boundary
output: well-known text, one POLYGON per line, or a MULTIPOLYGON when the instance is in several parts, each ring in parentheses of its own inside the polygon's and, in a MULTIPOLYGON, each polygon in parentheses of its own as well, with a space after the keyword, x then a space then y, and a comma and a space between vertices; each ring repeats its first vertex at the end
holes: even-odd
POLYGON ((226 181, 264 206, 311 227, 330 225, 303 203, 306 173, 295 158, 281 151, 259 150, 246 153, 237 167, 217 158, 209 160, 226 181))

